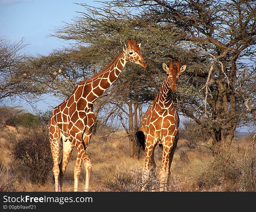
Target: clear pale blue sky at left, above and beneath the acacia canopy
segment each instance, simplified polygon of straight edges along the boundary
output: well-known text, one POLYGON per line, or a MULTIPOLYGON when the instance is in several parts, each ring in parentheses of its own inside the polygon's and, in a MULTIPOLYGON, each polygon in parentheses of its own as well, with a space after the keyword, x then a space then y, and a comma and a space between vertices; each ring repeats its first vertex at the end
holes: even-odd
MULTIPOLYGON (((5 37, 11 43, 24 39, 24 44, 28 44, 25 52, 29 54, 48 55, 53 49, 68 46, 67 42, 49 35, 54 34, 56 27, 63 26, 63 22, 72 22, 74 17, 79 16, 77 11, 85 12, 84 7, 75 3, 101 6, 101 3, 89 0, 0 0, 0 37, 5 37)), ((56 98, 45 96, 45 100, 36 107, 46 111, 59 103, 56 98)), ((33 112, 25 102, 22 106, 33 112)))

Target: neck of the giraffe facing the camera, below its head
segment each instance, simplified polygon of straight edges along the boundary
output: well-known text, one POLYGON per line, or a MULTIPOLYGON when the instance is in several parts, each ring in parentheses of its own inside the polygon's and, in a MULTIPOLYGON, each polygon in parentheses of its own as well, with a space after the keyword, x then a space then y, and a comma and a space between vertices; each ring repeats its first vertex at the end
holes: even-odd
POLYGON ((156 103, 159 105, 160 108, 166 109, 173 104, 171 92, 172 90, 170 89, 170 82, 168 80, 168 77, 166 77, 156 96, 156 103))

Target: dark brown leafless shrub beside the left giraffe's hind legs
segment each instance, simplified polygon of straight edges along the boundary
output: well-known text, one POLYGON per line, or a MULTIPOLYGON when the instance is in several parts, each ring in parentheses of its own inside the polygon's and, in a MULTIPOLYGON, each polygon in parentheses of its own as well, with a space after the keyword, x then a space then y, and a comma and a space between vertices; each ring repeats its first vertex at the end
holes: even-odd
POLYGON ((51 148, 48 135, 43 132, 30 132, 21 135, 13 146, 13 163, 19 169, 29 170, 33 184, 45 184, 52 169, 51 148))

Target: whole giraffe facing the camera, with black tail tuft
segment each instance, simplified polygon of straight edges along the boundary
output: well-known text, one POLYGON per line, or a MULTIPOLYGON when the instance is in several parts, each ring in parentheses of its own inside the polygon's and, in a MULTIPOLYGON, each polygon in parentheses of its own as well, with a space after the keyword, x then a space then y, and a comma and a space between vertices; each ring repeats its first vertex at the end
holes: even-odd
MULTIPOLYGON (((150 171, 155 177, 157 165, 154 161, 154 150, 157 144, 163 147, 161 169, 159 171, 160 191, 167 188, 170 166, 179 138, 179 115, 171 99, 171 92, 177 89, 179 75, 186 69, 186 65, 180 67, 180 64, 181 62, 177 61, 174 66, 173 60, 170 60, 168 68, 163 63, 163 69, 167 76, 151 107, 145 112, 139 127, 140 131, 136 133, 136 141, 145 151, 143 184, 150 179, 150 171)), ((144 185, 141 190, 145 190, 144 185)))

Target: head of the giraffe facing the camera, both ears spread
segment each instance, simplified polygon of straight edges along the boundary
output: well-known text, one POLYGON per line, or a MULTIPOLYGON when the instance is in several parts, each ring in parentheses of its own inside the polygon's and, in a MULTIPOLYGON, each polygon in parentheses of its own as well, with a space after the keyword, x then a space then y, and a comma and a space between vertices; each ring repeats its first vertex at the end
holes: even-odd
POLYGON ((163 63, 163 70, 166 71, 168 80, 170 82, 170 89, 172 91, 175 91, 177 89, 177 81, 179 78, 179 75, 185 71, 186 65, 180 67, 180 61, 178 60, 176 65, 173 65, 173 60, 170 59, 169 68, 168 66, 163 63))

